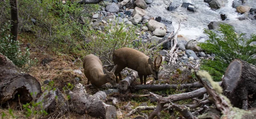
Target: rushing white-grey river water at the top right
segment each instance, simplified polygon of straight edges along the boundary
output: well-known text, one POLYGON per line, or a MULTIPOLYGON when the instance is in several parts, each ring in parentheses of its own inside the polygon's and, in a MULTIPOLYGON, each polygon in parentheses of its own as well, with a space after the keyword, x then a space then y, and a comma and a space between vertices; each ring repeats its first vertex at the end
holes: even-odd
MULTIPOLYGON (((248 1, 249 3, 252 3, 251 6, 256 6, 256 2, 253 2, 253 0, 248 1)), ((197 39, 198 41, 203 42, 207 38, 203 33, 204 29, 208 29, 207 25, 210 22, 221 20, 220 14, 225 14, 227 20, 239 22, 238 17, 242 17, 242 15, 236 12, 236 9, 232 7, 232 3, 233 0, 226 0, 224 7, 214 11, 210 9, 209 4, 205 3, 204 0, 153 0, 153 3, 151 3, 146 11, 148 12, 148 15, 152 15, 153 17, 160 16, 172 20, 175 32, 178 29, 180 20, 186 19, 181 24, 178 35, 182 35, 186 40, 197 39), (173 6, 178 7, 173 11, 168 11, 166 8, 171 2, 173 6), (192 3, 196 8, 196 12, 191 12, 186 8, 180 7, 182 3, 192 3)), ((256 26, 255 20, 248 20, 248 22, 251 22, 256 26)), ((251 26, 250 23, 247 26, 251 26)), ((246 27, 246 25, 244 27, 246 27)), ((256 27, 251 27, 252 28, 250 29, 255 31, 256 34, 256 27)), ((241 29, 241 31, 242 30, 243 29, 241 29)))

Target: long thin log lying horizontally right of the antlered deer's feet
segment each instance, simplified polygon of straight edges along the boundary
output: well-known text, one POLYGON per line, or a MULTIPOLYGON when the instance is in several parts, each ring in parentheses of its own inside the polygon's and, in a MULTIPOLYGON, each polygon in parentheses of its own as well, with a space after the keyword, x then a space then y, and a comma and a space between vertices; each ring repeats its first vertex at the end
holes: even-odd
POLYGON ((135 90, 167 90, 167 89, 189 89, 189 88, 199 88, 203 87, 201 84, 162 84, 162 85, 136 85, 134 86, 135 90))

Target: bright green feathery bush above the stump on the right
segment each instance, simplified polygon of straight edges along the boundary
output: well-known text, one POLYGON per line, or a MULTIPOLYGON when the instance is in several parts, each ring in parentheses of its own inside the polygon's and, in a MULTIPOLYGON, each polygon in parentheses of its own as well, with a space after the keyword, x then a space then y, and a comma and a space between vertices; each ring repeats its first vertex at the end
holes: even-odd
POLYGON ((199 44, 207 53, 214 53, 214 60, 204 60, 201 70, 207 70, 215 81, 220 81, 221 76, 227 66, 236 58, 256 64, 256 46, 250 45, 256 41, 256 35, 251 35, 250 39, 243 38, 244 34, 237 34, 233 26, 220 24, 218 31, 221 35, 205 29, 204 32, 209 36, 209 40, 199 44))

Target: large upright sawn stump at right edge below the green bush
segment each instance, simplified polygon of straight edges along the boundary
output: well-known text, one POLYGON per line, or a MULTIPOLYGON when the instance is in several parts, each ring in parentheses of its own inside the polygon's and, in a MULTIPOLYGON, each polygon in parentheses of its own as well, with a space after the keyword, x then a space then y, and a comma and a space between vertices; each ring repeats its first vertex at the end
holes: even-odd
POLYGON ((235 59, 227 67, 222 80, 223 94, 230 99, 231 104, 247 109, 248 95, 256 93, 256 67, 235 59))

